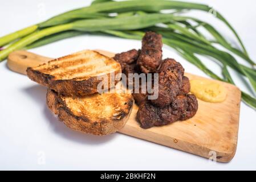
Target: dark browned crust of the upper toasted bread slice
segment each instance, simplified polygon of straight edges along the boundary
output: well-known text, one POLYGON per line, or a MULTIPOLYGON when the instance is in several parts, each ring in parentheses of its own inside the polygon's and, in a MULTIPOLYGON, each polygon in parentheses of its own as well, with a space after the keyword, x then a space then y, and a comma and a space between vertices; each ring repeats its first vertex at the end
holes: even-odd
MULTIPOLYGON (((92 52, 96 52, 96 51, 92 51, 92 52)), ((99 52, 96 52, 96 53, 101 56, 104 56, 99 52)), ((51 61, 64 60, 64 59, 67 59, 68 57, 72 57, 72 55, 63 56, 51 61)), ((121 65, 117 61, 116 61, 116 64, 119 65, 119 69, 115 70, 115 76, 121 73, 121 65)), ((97 78, 97 76, 90 77, 86 80, 79 80, 77 78, 68 79, 68 80, 58 80, 52 75, 42 73, 33 68, 27 68, 27 76, 32 81, 38 82, 40 85, 47 86, 48 88, 55 90, 56 92, 64 96, 88 96, 88 95, 97 93, 97 85, 99 85, 99 83, 102 81, 99 78, 97 78)), ((107 76, 109 79, 108 88, 110 88, 111 73, 106 73, 105 76, 107 76)), ((120 80, 115 80, 115 84, 117 84, 117 82, 119 81, 120 80)))

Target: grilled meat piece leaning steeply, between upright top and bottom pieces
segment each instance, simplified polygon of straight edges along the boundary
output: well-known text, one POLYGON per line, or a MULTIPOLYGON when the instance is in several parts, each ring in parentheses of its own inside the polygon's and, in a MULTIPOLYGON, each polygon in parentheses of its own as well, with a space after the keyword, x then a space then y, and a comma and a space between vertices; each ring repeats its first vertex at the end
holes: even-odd
POLYGON ((180 93, 184 68, 174 59, 165 59, 159 69, 159 97, 151 100, 157 107, 170 105, 180 93))

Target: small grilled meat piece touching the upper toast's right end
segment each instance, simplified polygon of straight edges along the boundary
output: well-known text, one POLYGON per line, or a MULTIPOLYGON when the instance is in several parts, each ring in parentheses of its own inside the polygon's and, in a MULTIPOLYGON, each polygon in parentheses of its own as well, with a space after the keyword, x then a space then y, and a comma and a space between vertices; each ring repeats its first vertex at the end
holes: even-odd
POLYGON ((127 64, 132 64, 137 61, 140 55, 140 50, 132 49, 127 52, 117 53, 113 59, 115 59, 118 63, 121 64, 122 71, 125 69, 127 64))

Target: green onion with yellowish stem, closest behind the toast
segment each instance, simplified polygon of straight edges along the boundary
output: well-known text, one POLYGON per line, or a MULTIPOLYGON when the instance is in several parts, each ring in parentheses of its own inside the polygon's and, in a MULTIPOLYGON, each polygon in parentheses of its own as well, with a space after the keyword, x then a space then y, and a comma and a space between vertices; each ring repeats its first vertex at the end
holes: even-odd
POLYGON ((78 31, 101 31, 101 30, 135 30, 138 28, 145 28, 153 26, 156 23, 168 22, 173 15, 171 14, 147 14, 147 15, 136 15, 122 18, 108 18, 108 19, 91 19, 91 20, 78 20, 73 23, 63 24, 60 26, 45 28, 38 32, 34 32, 31 35, 18 40, 11 46, 7 47, 0 52, 0 61, 4 60, 9 53, 26 47, 29 44, 41 39, 45 36, 56 34, 58 32, 67 30, 78 30, 78 31))

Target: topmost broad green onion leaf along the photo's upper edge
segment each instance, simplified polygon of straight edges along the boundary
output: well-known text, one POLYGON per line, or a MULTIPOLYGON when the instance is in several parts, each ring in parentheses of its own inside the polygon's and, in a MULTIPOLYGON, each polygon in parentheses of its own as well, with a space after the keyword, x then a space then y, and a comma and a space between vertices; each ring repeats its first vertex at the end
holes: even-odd
POLYGON ((68 11, 66 13, 55 16, 39 24, 40 27, 54 26, 60 23, 67 23, 74 20, 72 17, 74 14, 76 18, 79 15, 91 14, 91 13, 124 13, 127 11, 145 11, 145 12, 159 12, 165 9, 198 9, 209 11, 210 8, 206 5, 200 5, 196 3, 186 3, 178 1, 164 1, 164 0, 137 0, 137 1, 121 1, 121 2, 103 2, 96 3, 95 5, 83 7, 68 11))

